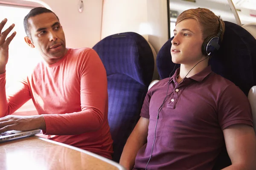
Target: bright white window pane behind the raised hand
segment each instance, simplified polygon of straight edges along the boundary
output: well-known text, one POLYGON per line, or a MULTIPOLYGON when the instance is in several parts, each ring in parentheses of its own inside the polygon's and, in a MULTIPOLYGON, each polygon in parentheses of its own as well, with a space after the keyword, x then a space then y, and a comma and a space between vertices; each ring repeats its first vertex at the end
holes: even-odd
MULTIPOLYGON (((33 7, 0 4, 0 16, 2 16, 0 20, 4 18, 8 19, 3 31, 12 23, 15 23, 15 28, 12 32, 17 32, 9 45, 9 60, 6 65, 6 89, 29 74, 35 64, 41 59, 38 52, 30 48, 24 41, 26 33, 23 28, 23 18, 32 8, 33 7)), ((9 35, 11 35, 12 32, 9 35)))

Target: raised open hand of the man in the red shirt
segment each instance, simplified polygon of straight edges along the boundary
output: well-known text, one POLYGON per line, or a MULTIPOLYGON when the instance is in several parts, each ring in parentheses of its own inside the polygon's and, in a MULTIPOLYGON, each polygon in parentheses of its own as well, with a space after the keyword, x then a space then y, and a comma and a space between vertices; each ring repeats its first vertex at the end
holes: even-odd
POLYGON ((10 37, 6 39, 7 35, 12 31, 15 26, 15 24, 12 24, 11 26, 9 26, 9 28, 2 32, 2 29, 5 26, 6 22, 7 19, 5 18, 0 23, 0 74, 3 74, 5 72, 6 64, 9 57, 9 44, 16 35, 16 32, 13 32, 12 35, 10 35, 10 37))

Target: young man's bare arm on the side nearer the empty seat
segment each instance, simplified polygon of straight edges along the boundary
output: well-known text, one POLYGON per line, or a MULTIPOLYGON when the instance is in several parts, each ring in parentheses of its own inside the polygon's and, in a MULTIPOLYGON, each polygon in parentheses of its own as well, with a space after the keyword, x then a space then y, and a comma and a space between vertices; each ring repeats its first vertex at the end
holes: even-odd
POLYGON ((119 164, 127 170, 131 170, 134 167, 137 152, 147 141, 148 124, 149 119, 140 117, 139 122, 134 127, 134 130, 125 144, 119 164))

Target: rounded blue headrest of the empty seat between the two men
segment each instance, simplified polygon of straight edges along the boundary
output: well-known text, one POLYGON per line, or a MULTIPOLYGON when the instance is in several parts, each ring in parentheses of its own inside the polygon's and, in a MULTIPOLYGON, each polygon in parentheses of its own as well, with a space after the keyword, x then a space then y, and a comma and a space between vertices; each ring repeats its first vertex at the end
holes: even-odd
POLYGON ((148 86, 154 70, 154 56, 148 42, 134 32, 105 37, 93 49, 99 54, 107 75, 125 74, 148 86))

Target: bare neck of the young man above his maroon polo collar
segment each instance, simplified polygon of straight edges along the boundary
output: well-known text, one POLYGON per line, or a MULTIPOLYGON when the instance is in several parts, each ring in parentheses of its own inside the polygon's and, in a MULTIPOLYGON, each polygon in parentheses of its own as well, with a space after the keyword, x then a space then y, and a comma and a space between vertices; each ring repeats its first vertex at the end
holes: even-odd
POLYGON ((177 78, 177 82, 181 82, 181 80, 186 77, 192 77, 195 74, 198 74, 199 72, 203 71, 205 68, 208 67, 208 59, 200 62, 198 65, 184 65, 180 64, 180 74, 177 78), (195 66, 195 67, 194 67, 195 66), (194 68, 193 68, 194 67, 194 68), (192 70, 191 70, 192 69, 192 70))

